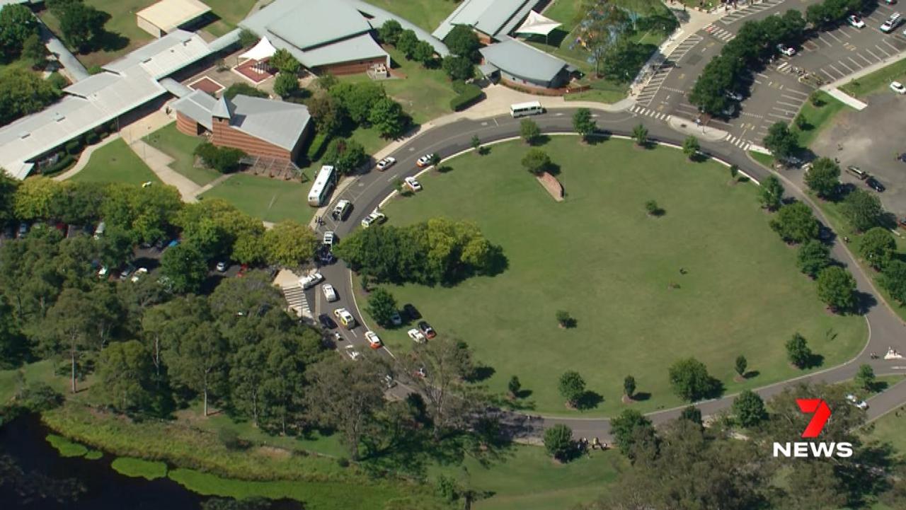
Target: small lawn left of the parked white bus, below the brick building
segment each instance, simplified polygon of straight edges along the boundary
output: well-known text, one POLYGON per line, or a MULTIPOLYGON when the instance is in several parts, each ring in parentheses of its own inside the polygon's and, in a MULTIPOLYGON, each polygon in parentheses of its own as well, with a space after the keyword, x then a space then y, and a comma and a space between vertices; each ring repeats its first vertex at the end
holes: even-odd
POLYGON ((308 205, 311 184, 238 174, 201 197, 223 198, 239 210, 265 221, 294 219, 307 224, 315 208, 308 205))

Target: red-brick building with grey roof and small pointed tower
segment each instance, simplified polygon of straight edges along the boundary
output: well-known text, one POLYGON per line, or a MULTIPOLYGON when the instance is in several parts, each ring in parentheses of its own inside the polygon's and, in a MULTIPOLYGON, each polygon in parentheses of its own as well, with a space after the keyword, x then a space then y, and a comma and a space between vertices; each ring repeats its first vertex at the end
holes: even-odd
POLYGON ((295 161, 311 132, 302 104, 245 95, 215 99, 193 91, 172 105, 176 127, 192 136, 210 133, 217 147, 241 149, 251 156, 295 161))

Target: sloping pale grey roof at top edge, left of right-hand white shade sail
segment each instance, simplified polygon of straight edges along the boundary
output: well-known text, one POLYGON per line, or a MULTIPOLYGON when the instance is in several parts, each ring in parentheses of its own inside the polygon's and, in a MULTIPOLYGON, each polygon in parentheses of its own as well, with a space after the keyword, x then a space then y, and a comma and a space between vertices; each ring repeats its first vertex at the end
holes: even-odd
POLYGON ((463 0, 433 35, 444 39, 458 24, 467 24, 491 37, 509 34, 538 0, 463 0))

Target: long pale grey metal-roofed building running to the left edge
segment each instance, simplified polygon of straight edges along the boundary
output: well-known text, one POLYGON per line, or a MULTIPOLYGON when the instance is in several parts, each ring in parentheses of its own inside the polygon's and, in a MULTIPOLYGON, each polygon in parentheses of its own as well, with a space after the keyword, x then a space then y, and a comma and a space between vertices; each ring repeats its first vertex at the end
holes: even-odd
POLYGON ((61 101, 0 128, 0 168, 25 178, 33 159, 163 95, 159 78, 209 53, 198 35, 177 31, 73 83, 61 101))

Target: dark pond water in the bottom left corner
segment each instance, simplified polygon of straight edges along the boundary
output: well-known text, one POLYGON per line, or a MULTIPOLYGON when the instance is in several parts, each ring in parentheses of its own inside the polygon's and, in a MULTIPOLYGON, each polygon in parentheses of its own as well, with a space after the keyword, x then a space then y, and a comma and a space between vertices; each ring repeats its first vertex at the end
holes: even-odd
POLYGON ((0 428, 0 508, 27 510, 198 510, 202 496, 168 478, 148 481, 122 476, 98 460, 63 458, 44 438, 36 417, 23 417, 0 428), (11 468, 10 460, 15 467, 11 468), (48 494, 50 493, 50 494, 48 494), (63 499, 58 501, 57 498, 63 499))

